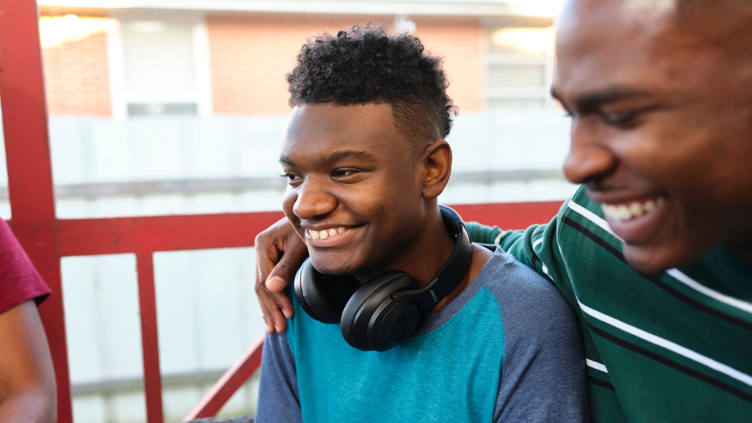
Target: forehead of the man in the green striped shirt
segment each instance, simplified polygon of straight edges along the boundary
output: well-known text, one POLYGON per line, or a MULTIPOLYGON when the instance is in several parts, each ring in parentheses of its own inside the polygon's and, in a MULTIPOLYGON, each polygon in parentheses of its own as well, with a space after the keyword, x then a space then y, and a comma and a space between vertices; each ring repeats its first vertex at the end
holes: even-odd
POLYGON ((561 96, 660 92, 686 79, 698 48, 674 31, 676 0, 572 0, 557 22, 561 96))

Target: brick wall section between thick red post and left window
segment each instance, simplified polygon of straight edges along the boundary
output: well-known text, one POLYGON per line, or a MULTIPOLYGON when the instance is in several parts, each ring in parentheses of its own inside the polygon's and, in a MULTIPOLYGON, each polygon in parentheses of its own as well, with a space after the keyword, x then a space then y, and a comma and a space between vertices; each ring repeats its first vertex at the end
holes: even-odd
POLYGON ((43 52, 50 115, 111 115, 105 32, 44 47, 43 52))

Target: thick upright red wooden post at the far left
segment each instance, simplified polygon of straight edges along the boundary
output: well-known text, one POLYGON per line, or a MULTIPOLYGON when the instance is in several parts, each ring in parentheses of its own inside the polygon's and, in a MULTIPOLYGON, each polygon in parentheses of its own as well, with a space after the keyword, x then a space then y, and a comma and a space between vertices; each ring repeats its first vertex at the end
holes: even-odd
POLYGON ((58 421, 71 423, 47 107, 34 0, 0 0, 0 101, 13 229, 53 292, 39 313, 55 366, 58 421))

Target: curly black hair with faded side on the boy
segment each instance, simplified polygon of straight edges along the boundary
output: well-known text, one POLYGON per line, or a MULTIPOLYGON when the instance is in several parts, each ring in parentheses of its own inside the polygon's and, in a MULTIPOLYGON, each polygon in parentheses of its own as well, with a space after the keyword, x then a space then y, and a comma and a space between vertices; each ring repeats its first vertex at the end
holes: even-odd
POLYGON ((442 60, 407 32, 366 23, 309 38, 287 74, 290 106, 389 104, 396 128, 424 144, 449 134, 457 108, 442 60))

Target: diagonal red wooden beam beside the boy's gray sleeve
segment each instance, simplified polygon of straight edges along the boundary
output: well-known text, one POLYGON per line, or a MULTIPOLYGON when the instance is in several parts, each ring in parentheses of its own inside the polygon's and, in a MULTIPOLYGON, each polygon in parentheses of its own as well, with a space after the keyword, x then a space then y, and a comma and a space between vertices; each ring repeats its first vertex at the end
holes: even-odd
POLYGON ((261 353, 264 343, 264 337, 256 340, 247 352, 238 362, 233 364, 214 384, 211 390, 202 398, 201 402, 194 408, 183 421, 190 421, 194 418, 213 417, 229 401, 232 394, 250 379, 250 376, 261 366, 261 353))

